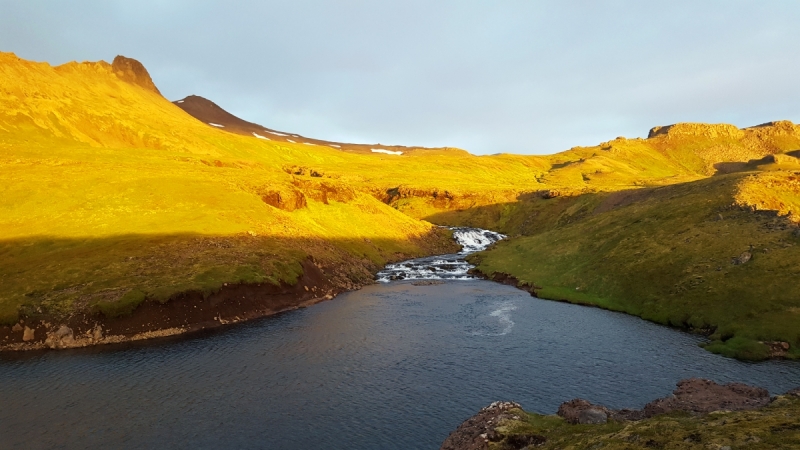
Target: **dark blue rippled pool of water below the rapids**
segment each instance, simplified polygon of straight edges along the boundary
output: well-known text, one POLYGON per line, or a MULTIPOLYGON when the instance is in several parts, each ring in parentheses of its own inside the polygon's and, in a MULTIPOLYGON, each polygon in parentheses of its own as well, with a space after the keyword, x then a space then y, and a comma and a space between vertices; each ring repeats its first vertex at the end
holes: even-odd
POLYGON ((369 286, 221 332, 0 359, 0 448, 438 448, 495 400, 641 407, 700 376, 773 393, 800 364, 488 281, 369 286))

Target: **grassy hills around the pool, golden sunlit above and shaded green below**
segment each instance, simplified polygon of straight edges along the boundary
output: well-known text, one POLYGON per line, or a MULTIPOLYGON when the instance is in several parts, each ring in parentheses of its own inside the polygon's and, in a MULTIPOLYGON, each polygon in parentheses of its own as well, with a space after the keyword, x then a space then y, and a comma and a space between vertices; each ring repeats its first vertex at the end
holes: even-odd
POLYGON ((291 286, 309 264, 327 284, 305 286, 308 299, 329 297, 370 282, 387 261, 452 250, 435 223, 510 233, 478 256, 481 269, 540 285, 550 298, 679 326, 724 325, 720 343, 741 334, 800 344, 786 331, 794 316, 780 329, 771 325, 800 308, 800 296, 780 287, 796 251, 773 243, 794 245, 798 221, 800 165, 792 155, 800 127, 790 122, 677 124, 654 128, 648 139, 548 156, 344 151, 198 120, 162 97, 137 64, 52 67, 0 53, 0 322, 20 336, 23 322, 48 324, 36 335, 43 339, 65 318, 81 315, 89 327, 187 292, 201 293, 202 303, 227 284, 291 286), (753 210, 781 216, 769 228, 753 210), (695 236, 695 227, 706 227, 701 235, 719 238, 724 226, 732 235, 713 245, 695 236), (764 237, 765 227, 786 236, 764 237), (769 249, 735 268, 742 273, 708 281, 704 288, 719 293, 713 300, 681 297, 705 302, 696 312, 671 312, 669 296, 694 289, 702 258, 739 256, 749 244, 769 249), (655 247, 679 247, 681 256, 657 256, 655 247), (655 289, 624 281, 648 270, 670 275, 655 289), (757 295, 764 280, 778 286, 772 309, 748 303, 732 325, 715 315, 730 314, 711 303, 737 292, 737 283, 757 295), (750 323, 766 331, 742 334, 750 323))

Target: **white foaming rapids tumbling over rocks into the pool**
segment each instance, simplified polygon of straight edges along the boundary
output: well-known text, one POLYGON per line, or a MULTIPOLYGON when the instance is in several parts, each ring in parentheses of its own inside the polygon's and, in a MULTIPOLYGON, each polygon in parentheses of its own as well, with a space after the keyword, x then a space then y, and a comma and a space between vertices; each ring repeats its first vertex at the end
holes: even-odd
POLYGON ((461 245, 461 251, 449 255, 428 256, 387 264, 375 275, 377 281, 388 283, 395 280, 472 280, 469 274, 472 264, 464 257, 485 250, 506 236, 480 228, 456 227, 453 238, 461 245))

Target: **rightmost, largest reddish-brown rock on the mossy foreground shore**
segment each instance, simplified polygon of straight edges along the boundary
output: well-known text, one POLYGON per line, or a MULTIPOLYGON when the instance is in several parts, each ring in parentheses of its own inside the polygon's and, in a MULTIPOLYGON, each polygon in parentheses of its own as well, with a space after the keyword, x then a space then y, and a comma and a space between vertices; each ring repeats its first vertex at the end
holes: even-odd
POLYGON ((672 411, 709 413, 758 409, 770 401, 769 392, 742 383, 719 385, 711 380, 690 378, 678 382, 673 396, 654 400, 644 407, 646 417, 672 411))

